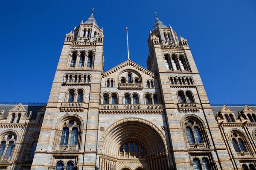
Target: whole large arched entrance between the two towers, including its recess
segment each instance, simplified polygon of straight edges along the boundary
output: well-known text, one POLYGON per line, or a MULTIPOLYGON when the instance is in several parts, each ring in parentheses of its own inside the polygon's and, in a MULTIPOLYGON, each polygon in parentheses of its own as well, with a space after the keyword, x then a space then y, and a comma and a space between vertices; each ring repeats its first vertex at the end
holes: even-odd
POLYGON ((122 119, 100 139, 99 170, 169 170, 166 139, 161 130, 144 119, 122 119))

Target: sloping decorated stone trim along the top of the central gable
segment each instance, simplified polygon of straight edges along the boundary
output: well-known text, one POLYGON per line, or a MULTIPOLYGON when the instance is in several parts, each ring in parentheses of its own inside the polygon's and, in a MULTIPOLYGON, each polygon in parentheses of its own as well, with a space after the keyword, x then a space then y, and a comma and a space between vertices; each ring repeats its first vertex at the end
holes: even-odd
POLYGON ((116 71, 118 71, 122 68, 125 68, 127 66, 133 66, 137 71, 143 72, 144 74, 147 74, 152 78, 154 78, 154 76, 155 76, 154 73, 152 73, 151 71, 148 71, 147 69, 141 67, 140 65, 137 65, 135 62, 128 59, 127 61, 123 62, 122 64, 117 65, 115 68, 112 68, 111 70, 103 73, 102 78, 107 77, 108 75, 113 74, 116 71))

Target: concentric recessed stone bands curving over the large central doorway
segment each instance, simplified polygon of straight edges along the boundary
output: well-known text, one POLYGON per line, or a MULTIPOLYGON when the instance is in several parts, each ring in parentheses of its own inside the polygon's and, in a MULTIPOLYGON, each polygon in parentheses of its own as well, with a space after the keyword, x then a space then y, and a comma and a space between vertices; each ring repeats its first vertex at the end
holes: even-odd
POLYGON ((117 157, 121 144, 131 140, 143 143, 147 156, 168 151, 166 137, 157 126, 145 119, 128 118, 113 123, 105 130, 99 141, 98 153, 117 157))

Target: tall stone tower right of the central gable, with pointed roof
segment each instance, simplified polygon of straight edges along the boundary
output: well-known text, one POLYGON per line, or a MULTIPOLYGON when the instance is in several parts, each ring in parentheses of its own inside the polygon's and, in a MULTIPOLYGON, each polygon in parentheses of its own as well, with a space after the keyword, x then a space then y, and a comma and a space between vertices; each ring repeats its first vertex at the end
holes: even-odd
POLYGON ((221 169, 221 163, 231 167, 187 40, 178 41, 172 27, 156 17, 148 48, 148 70, 159 78, 175 167, 204 162, 210 169, 221 169))

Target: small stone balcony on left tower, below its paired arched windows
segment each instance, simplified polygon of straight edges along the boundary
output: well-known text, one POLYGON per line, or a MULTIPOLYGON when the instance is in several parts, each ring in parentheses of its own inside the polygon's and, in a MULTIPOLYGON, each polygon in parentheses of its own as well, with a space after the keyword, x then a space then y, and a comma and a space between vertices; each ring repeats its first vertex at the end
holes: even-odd
POLYGON ((84 112, 84 102, 62 102, 61 112, 84 112))

